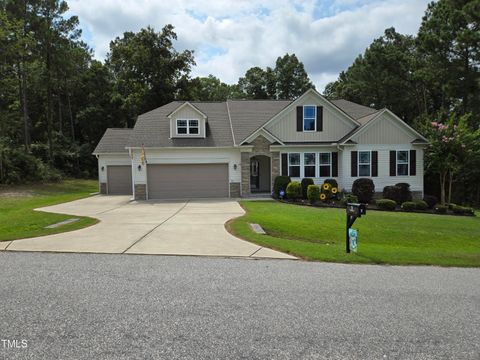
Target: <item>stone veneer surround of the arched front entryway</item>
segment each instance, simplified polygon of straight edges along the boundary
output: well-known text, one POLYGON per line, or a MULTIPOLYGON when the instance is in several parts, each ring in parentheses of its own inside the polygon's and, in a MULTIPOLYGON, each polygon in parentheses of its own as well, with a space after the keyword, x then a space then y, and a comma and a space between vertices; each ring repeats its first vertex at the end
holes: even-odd
POLYGON ((242 196, 250 195, 250 158, 257 155, 265 155, 272 159, 271 165, 271 181, 272 186, 275 177, 280 174, 280 154, 278 152, 270 152, 270 141, 264 136, 259 135, 252 141, 251 152, 242 152, 241 154, 241 170, 242 170, 242 196))

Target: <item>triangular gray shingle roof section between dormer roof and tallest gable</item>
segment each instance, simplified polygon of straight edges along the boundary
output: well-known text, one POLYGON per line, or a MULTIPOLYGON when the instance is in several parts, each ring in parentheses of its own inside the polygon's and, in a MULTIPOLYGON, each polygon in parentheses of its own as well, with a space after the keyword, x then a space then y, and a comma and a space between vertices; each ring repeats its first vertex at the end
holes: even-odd
POLYGON ((240 144, 290 103, 290 100, 228 100, 236 144, 240 144))

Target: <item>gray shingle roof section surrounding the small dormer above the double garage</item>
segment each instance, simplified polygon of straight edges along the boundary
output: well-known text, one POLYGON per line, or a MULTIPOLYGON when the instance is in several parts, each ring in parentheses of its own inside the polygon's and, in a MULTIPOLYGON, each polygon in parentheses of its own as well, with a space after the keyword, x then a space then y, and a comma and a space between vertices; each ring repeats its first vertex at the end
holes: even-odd
POLYGON ((184 101, 173 101, 138 117, 127 146, 140 147, 223 147, 233 146, 232 130, 225 102, 191 102, 208 116, 206 138, 170 139, 167 117, 184 101))

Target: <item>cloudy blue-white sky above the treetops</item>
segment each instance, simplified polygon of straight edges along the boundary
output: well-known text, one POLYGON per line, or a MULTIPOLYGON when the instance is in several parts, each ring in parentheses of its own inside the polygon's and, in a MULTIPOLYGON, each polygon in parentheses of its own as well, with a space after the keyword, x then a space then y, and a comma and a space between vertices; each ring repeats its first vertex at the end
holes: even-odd
POLYGON ((317 90, 395 27, 415 34, 429 0, 70 0, 83 40, 105 59, 125 31, 175 27, 175 48, 194 50, 192 76, 233 84, 253 67, 295 53, 317 90))

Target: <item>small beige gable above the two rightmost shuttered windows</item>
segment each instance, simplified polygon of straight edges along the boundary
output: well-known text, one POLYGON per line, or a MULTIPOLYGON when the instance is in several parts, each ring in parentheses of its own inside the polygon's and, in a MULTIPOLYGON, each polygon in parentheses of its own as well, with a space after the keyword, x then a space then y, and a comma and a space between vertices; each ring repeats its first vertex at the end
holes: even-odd
POLYGON ((358 144, 409 144, 417 138, 418 134, 400 123, 393 114, 383 111, 351 140, 358 144))

